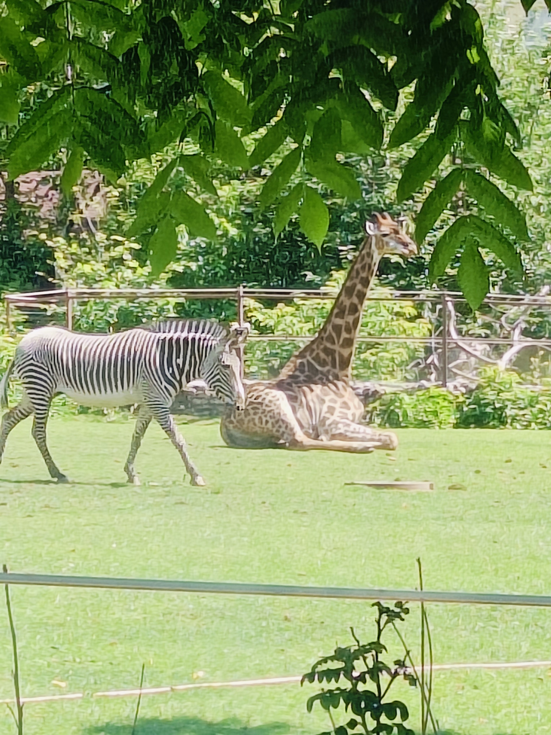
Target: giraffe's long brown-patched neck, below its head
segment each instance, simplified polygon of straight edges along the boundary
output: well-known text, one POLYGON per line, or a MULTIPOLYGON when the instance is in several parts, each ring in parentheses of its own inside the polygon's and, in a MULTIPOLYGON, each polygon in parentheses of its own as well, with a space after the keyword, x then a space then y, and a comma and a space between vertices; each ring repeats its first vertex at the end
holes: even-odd
POLYGON ((317 337, 292 356, 278 379, 350 380, 361 312, 381 259, 376 237, 365 238, 317 337))

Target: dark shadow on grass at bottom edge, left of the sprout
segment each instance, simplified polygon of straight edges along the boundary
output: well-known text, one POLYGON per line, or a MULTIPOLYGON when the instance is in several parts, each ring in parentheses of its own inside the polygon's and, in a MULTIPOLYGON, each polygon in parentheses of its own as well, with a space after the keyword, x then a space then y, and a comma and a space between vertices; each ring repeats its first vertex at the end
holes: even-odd
MULTIPOLYGON (((198 717, 176 717, 174 720, 138 720, 134 735, 285 735, 287 723, 270 723, 248 728, 240 720, 231 718, 209 723, 198 717)), ((106 723, 86 728, 83 735, 131 735, 132 724, 106 723)))

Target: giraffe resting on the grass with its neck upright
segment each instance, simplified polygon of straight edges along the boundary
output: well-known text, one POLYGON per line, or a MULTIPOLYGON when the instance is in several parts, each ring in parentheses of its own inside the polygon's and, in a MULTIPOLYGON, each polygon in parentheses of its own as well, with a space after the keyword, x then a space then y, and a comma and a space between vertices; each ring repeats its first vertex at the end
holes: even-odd
POLYGON ((381 257, 392 253, 411 257, 417 245, 386 212, 376 213, 317 336, 277 378, 243 381, 245 409, 229 409, 220 423, 228 446, 356 453, 397 448, 395 434, 361 423, 364 405, 350 387, 364 301, 381 257))

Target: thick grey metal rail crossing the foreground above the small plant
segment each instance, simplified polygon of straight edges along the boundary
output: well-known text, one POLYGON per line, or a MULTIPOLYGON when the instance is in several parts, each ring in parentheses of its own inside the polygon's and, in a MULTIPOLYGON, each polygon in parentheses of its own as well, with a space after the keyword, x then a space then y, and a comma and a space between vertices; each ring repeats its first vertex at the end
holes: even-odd
POLYGON ((506 595, 485 592, 429 592, 418 589, 353 587, 303 587, 294 584, 247 584, 240 582, 194 582, 172 579, 76 577, 59 574, 0 573, 0 584, 32 587, 80 587, 126 589, 136 592, 195 592, 203 595, 260 595, 268 597, 317 598, 325 600, 408 600, 408 602, 458 603, 468 605, 514 605, 551 607, 551 595, 506 595))

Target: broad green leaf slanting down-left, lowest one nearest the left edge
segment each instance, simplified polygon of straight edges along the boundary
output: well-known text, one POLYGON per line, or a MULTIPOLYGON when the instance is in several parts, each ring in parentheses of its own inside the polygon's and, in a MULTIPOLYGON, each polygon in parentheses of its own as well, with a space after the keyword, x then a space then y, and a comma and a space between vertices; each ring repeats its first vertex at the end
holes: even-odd
POLYGON ((57 153, 71 134, 73 115, 71 110, 60 110, 55 118, 43 118, 30 137, 21 141, 12 151, 7 165, 8 179, 17 179, 21 173, 40 169, 48 158, 57 153))

